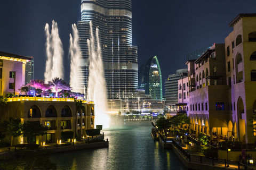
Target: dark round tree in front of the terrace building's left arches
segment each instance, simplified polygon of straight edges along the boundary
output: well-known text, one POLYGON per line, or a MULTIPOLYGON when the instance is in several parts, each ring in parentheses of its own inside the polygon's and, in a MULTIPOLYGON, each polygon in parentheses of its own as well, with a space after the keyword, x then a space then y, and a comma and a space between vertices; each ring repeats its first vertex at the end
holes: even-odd
POLYGON ((30 143, 32 136, 42 136, 45 134, 45 131, 47 131, 47 127, 35 121, 27 121, 22 125, 23 137, 28 137, 28 143, 30 143))

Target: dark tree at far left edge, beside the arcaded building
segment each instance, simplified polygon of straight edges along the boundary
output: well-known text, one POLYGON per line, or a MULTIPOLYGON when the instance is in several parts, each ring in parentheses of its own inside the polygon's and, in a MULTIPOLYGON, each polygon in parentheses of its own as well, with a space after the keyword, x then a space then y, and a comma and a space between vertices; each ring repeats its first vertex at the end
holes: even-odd
POLYGON ((1 130, 3 134, 11 137, 11 147, 13 138, 19 137, 22 134, 21 127, 21 120, 13 117, 9 117, 9 121, 3 121, 1 124, 1 130))

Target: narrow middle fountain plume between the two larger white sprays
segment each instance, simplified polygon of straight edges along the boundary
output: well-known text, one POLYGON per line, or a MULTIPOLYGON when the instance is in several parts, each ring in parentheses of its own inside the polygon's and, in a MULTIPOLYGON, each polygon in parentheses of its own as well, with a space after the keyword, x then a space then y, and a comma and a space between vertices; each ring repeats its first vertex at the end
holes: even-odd
POLYGON ((69 46, 69 55, 71 58, 70 61, 70 86, 73 87, 74 92, 80 92, 78 90, 78 71, 79 71, 79 65, 81 62, 81 50, 78 45, 79 36, 78 36, 78 30, 76 28, 76 24, 72 24, 73 29, 73 37, 70 33, 70 46, 69 46))

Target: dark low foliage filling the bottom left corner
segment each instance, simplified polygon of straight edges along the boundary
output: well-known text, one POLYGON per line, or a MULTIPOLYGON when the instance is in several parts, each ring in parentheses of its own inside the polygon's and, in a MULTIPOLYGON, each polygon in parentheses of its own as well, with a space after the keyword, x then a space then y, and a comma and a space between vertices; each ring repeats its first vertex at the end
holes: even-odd
POLYGON ((28 170, 28 169, 42 169, 42 170, 55 170, 57 169, 56 164, 51 162, 49 152, 45 150, 37 151, 25 151, 23 149, 18 149, 17 156, 5 157, 9 161, 4 161, 0 164, 0 168, 6 170, 28 170))

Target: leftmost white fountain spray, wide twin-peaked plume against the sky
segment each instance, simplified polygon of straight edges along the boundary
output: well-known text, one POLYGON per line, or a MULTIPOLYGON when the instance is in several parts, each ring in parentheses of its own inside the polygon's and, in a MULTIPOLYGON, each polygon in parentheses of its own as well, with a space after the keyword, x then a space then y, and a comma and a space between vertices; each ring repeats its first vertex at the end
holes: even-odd
POLYGON ((59 29, 57 22, 52 21, 52 31, 50 33, 49 24, 45 25, 46 35, 46 65, 44 79, 45 82, 55 77, 63 79, 63 47, 59 37, 59 29))

